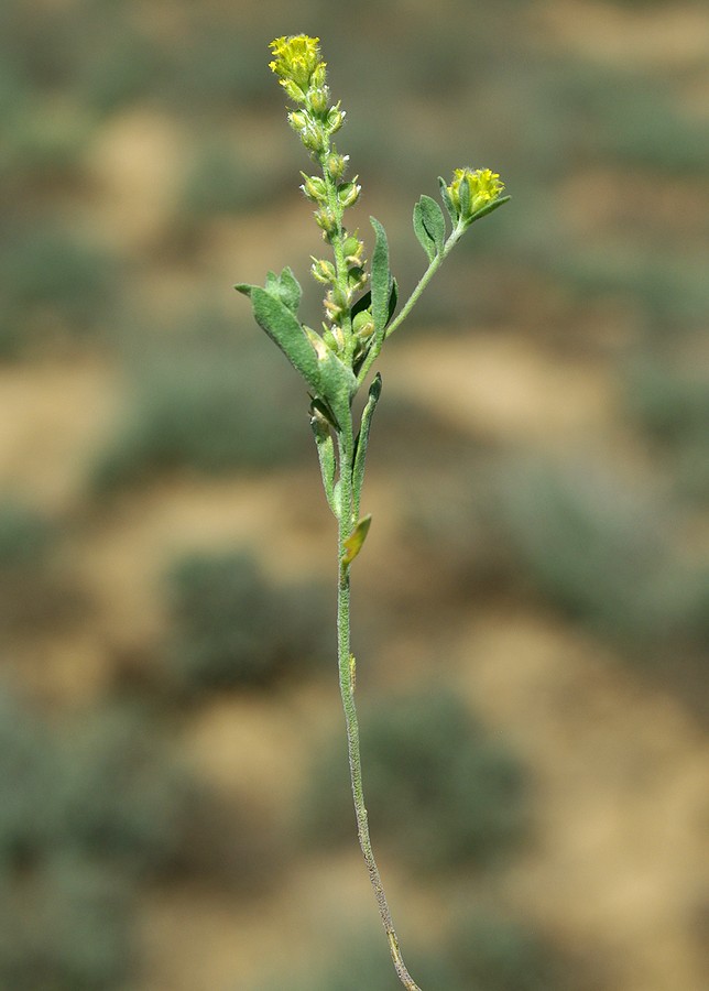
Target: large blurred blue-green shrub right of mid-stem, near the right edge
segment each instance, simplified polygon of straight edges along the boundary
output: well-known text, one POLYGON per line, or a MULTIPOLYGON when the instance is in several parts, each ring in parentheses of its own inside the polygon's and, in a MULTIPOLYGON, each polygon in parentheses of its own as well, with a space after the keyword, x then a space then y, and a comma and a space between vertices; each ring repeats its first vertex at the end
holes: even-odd
POLYGON ((497 524, 509 566, 600 632, 643 636, 661 617, 653 589, 669 566, 667 516, 598 466, 516 462, 501 473, 497 524))

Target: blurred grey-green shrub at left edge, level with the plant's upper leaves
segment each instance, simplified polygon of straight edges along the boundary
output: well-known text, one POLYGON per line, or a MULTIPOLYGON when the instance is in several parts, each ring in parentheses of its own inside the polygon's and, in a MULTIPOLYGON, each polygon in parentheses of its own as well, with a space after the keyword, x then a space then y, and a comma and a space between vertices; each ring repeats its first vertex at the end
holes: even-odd
POLYGON ((0 357, 96 331, 112 298, 107 254, 58 229, 19 230, 0 246, 0 357))

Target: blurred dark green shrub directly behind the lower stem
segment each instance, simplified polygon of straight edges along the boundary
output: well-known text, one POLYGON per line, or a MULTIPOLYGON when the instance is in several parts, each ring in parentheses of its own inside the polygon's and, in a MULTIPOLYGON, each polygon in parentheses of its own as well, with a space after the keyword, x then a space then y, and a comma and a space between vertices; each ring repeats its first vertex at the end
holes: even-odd
MULTIPOLYGON (((527 781, 517 760, 448 690, 388 699, 361 715, 364 791, 372 834, 416 868, 488 864, 527 826, 527 781)), ((342 733, 318 748, 303 798, 314 842, 351 840, 354 812, 342 733)))

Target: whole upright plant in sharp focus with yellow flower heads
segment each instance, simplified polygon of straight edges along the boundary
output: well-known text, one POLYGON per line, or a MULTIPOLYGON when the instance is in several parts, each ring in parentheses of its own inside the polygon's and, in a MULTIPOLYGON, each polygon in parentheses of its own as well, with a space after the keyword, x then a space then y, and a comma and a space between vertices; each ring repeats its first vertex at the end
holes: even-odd
POLYGON ((359 726, 354 705, 356 662, 350 651, 350 567, 367 537, 371 518, 360 515, 364 461, 372 415, 382 390, 374 375, 356 432, 352 401, 364 384, 384 341, 401 326, 424 288, 455 244, 476 220, 509 200, 504 185, 489 168, 456 168, 449 184, 439 178, 440 196, 450 219, 430 196, 414 207, 414 232, 428 259, 428 268, 406 303, 397 309, 396 280, 389 266, 389 244, 382 225, 373 217, 374 248, 367 265, 359 232, 342 224, 345 210, 360 197, 358 176, 346 179, 348 156, 340 154, 332 137, 345 122, 339 101, 332 104, 327 86, 326 63, 318 39, 299 34, 271 42, 270 68, 290 100, 288 122, 317 163, 320 174, 302 173, 301 186, 315 204, 315 221, 331 258, 312 259, 314 279, 326 286, 325 320, 319 331, 298 317, 302 290, 290 268, 280 275, 269 272, 264 286, 240 283, 236 288, 249 296, 257 323, 281 348, 305 379, 310 398, 310 425, 315 435, 328 504, 338 524, 337 643, 340 694, 345 709, 350 777, 360 846, 390 951, 402 984, 419 991, 408 973, 382 886, 369 836, 362 789, 359 726))

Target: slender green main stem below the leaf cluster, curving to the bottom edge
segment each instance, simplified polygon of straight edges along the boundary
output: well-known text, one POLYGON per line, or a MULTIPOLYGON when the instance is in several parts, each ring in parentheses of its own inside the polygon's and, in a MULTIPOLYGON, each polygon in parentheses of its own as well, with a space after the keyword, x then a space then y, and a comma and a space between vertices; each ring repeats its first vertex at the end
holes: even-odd
POLYGON ((343 426, 338 438, 341 500, 338 516, 337 663, 339 669, 340 695, 347 725, 347 747, 352 796, 354 798, 354 813, 357 816, 357 835, 364 857, 364 862, 367 863, 369 879, 374 889, 374 897, 377 899, 379 914, 389 940, 389 949, 394 963, 394 969, 396 970, 400 981, 407 991, 421 991, 418 984, 416 984, 408 973, 401 955, 399 938, 396 936, 396 930, 394 929, 391 912, 389 911, 386 895, 384 894, 384 887, 382 885, 379 868, 377 867, 377 861, 374 860, 372 843, 369 836, 367 807, 364 805, 364 793, 362 788, 359 722, 357 719, 357 707, 354 705, 354 657, 350 652, 350 565, 343 564, 346 553, 345 542, 352 533, 352 529, 357 522, 353 515, 352 468, 354 460, 354 443, 351 420, 343 426))

